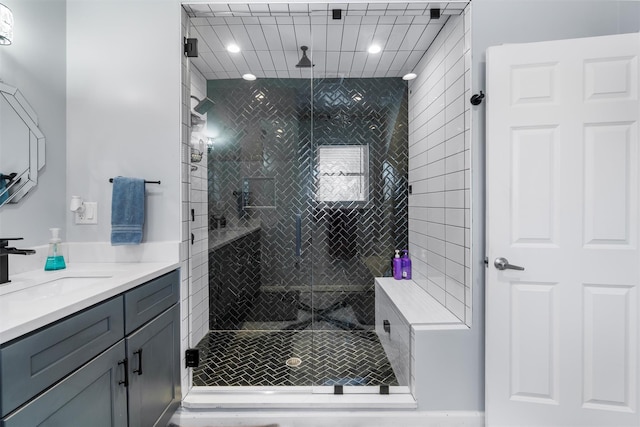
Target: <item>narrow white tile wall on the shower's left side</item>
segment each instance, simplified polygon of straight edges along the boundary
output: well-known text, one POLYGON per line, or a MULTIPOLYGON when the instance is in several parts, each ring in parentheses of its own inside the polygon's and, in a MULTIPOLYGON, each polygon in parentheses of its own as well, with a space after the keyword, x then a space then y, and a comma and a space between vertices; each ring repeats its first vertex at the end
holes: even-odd
MULTIPOLYGON (((188 37, 189 18, 182 11, 182 35, 188 37)), ((207 83, 189 58, 182 58, 182 238, 180 245, 181 266, 181 325, 180 355, 182 366, 183 397, 191 388, 191 373, 185 366, 185 350, 195 345, 209 331, 209 234, 207 230, 207 153, 206 145, 196 147, 203 152, 199 163, 191 162, 194 135, 191 132, 191 95, 202 99, 207 83), (191 170, 191 166, 197 166, 191 170), (194 215, 191 215, 193 209, 194 215), (193 234, 193 244, 191 235, 193 234)), ((202 136, 196 136, 196 141, 202 136)), ((197 145, 197 144, 196 144, 197 145)))

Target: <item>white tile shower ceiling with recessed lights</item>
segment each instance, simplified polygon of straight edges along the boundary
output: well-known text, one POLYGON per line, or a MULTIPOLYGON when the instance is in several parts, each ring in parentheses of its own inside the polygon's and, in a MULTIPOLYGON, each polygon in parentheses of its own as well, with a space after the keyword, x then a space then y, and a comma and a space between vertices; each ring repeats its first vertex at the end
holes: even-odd
POLYGON ((257 77, 400 77, 413 71, 448 17, 467 1, 416 3, 184 4, 193 65, 208 80, 257 77), (440 19, 431 19, 439 7, 440 19), (342 19, 332 18, 342 9, 342 19), (226 47, 237 44, 241 51, 226 47), (382 51, 369 54, 378 44, 382 51), (312 69, 296 68, 309 46, 312 69))

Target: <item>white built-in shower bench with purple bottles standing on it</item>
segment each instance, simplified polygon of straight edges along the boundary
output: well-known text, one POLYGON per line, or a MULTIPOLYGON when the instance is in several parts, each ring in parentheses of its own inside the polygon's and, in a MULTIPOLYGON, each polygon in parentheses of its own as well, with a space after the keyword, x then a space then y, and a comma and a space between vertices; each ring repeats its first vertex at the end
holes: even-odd
POLYGON ((408 386, 421 410, 445 410, 464 387, 465 338, 469 328, 412 280, 377 277, 376 333, 398 383, 408 386))

